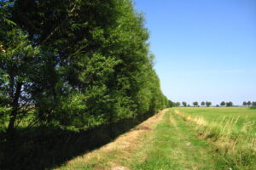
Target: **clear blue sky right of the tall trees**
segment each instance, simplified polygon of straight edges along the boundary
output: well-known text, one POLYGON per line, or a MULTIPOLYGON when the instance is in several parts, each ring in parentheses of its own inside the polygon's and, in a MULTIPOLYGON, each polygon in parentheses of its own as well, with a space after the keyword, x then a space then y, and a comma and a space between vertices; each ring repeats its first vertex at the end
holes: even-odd
POLYGON ((256 101, 256 0, 134 0, 172 101, 256 101))

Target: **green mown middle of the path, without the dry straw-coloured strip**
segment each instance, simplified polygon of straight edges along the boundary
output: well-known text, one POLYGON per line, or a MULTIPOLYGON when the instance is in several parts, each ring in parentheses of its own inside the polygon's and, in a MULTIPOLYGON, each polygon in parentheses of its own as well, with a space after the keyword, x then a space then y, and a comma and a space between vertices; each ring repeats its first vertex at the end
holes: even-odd
POLYGON ((139 163, 133 161, 132 169, 230 169, 224 166, 211 144, 195 134, 193 127, 169 111, 151 134, 153 139, 148 139, 147 147, 136 156, 139 160, 143 153, 147 159, 139 163))

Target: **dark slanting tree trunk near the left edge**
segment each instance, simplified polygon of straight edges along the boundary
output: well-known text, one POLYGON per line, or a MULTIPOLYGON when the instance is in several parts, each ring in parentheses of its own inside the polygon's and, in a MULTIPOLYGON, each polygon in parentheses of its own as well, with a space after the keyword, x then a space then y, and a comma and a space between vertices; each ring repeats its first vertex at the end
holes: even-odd
POLYGON ((15 128, 15 121, 17 118, 17 114, 19 111, 19 99, 20 99, 20 92, 21 92, 21 87, 22 87, 22 83, 21 82, 17 82, 17 86, 15 89, 15 96, 13 99, 13 103, 11 105, 12 107, 12 111, 11 111, 11 118, 9 120, 9 126, 7 128, 7 138, 8 140, 12 139, 13 133, 14 133, 14 128, 15 128))

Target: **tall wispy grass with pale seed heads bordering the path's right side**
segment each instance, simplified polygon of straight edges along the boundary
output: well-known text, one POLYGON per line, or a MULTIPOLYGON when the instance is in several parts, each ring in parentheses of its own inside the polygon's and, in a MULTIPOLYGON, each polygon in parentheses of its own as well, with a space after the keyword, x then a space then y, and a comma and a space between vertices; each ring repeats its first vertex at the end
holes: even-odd
POLYGON ((194 123, 199 137, 211 140, 232 169, 256 169, 255 121, 238 126, 239 116, 224 116, 218 121, 207 122, 203 116, 190 116, 181 111, 175 114, 194 123))

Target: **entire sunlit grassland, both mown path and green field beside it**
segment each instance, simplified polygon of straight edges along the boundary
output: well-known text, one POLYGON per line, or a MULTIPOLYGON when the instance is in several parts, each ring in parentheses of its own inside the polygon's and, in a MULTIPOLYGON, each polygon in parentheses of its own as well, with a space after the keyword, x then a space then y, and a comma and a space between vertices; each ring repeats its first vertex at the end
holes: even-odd
POLYGON ((256 110, 172 108, 56 169, 256 169, 256 110))

